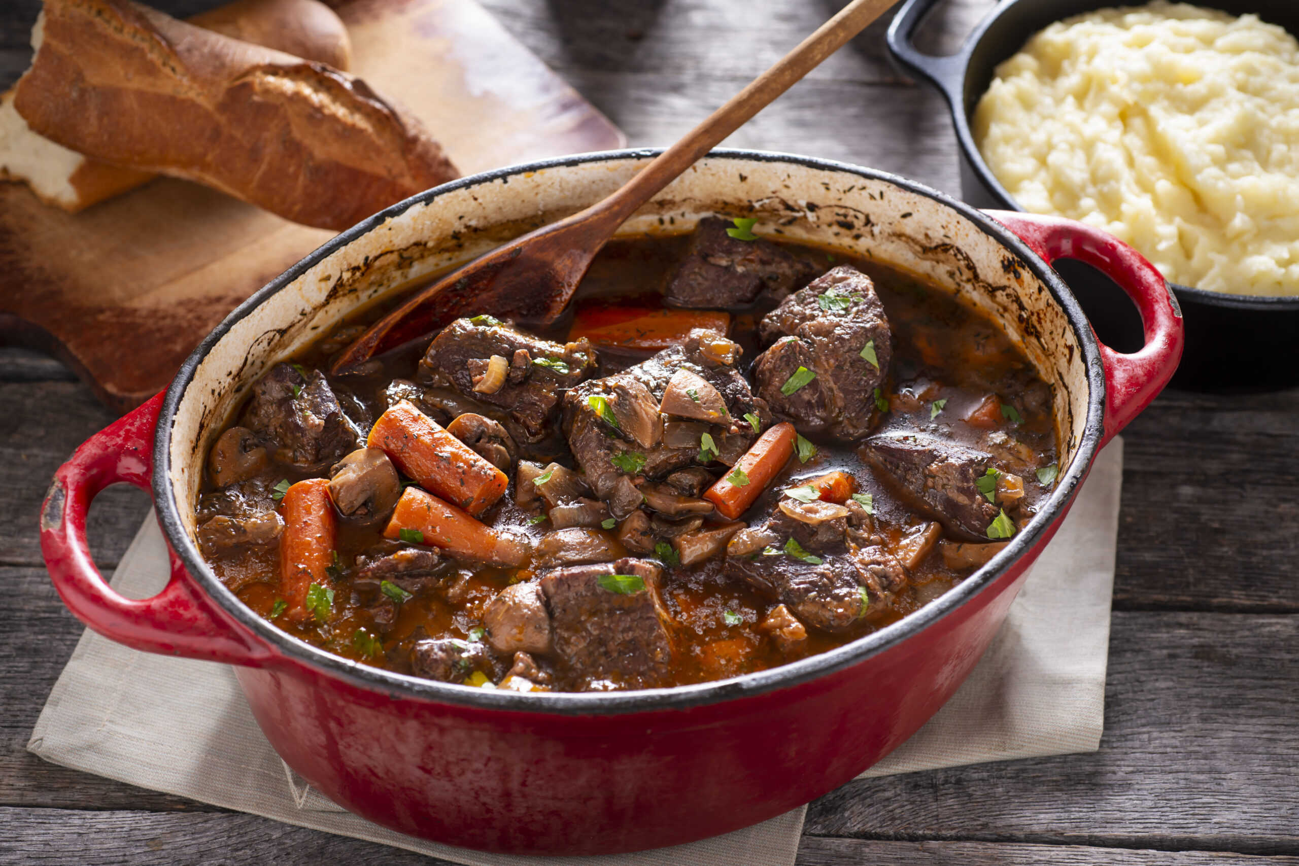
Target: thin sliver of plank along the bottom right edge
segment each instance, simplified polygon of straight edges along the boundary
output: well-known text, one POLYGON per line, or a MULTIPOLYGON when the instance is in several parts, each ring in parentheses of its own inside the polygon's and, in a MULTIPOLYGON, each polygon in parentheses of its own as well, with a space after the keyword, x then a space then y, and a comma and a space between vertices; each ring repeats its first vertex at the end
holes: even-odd
POLYGON ((1254 857, 1204 850, 1125 850, 1085 845, 1018 845, 969 841, 877 841, 804 836, 798 866, 891 863, 892 866, 1294 866, 1296 857, 1254 857))

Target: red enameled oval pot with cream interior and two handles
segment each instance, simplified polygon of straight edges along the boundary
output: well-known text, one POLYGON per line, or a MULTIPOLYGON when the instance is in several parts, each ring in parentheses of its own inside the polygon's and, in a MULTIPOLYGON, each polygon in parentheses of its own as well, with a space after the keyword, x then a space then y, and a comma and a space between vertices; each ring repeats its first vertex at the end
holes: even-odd
MULTIPOLYGON (((987 310, 1055 391, 1057 489, 987 567, 907 619, 833 652, 716 683, 522 695, 390 674, 265 622, 194 543, 204 454, 251 382, 357 305, 583 208, 652 156, 624 151, 448 183, 339 235, 253 295, 158 395, 56 474, 42 545, 68 606, 135 649, 235 666, 257 723, 325 796, 386 827, 453 845, 594 854, 686 843, 781 814, 852 779, 911 736, 965 679, 1056 531, 1096 451, 1163 388, 1182 348, 1164 280, 1103 232, 982 214, 902 178, 773 153, 720 151, 642 209, 629 234, 709 213, 904 265, 987 310), (1048 266, 1111 274, 1146 347, 1094 338, 1048 266), (86 512, 105 486, 149 491, 171 580, 132 601, 101 579, 86 512)), ((492 310, 483 310, 491 313, 492 310)))

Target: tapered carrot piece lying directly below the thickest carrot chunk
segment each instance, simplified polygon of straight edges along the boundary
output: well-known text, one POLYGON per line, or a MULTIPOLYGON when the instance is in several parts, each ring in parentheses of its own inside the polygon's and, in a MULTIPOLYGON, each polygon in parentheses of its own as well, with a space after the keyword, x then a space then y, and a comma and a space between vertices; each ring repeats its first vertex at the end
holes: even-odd
POLYGON ((520 539, 498 532, 418 487, 401 493, 383 538, 430 544, 490 565, 517 566, 527 558, 527 547, 520 539))

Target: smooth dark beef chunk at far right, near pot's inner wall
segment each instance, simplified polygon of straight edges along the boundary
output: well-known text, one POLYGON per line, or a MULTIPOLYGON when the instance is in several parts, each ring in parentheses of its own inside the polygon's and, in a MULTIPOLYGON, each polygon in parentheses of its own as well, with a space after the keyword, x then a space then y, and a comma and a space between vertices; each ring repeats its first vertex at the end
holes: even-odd
POLYGON ((872 436, 863 456, 889 478, 914 508, 968 540, 986 540, 999 509, 979 491, 991 454, 926 434, 872 436))

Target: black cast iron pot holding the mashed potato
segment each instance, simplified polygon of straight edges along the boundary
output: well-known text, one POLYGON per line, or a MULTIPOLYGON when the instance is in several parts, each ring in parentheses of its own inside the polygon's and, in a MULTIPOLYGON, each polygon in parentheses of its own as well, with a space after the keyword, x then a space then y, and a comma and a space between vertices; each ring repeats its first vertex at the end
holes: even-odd
MULTIPOLYGON (((940 0, 908 0, 889 27, 889 49, 905 71, 929 82, 947 99, 961 149, 961 197, 976 208, 1022 210, 983 162, 970 132, 970 117, 1002 61, 1033 34, 1070 16, 1146 0, 1003 0, 950 57, 926 55, 912 44, 924 17, 940 0)), ((1233 16, 1252 13, 1299 34, 1294 0, 1191 0, 1233 16)), ((1115 347, 1142 344, 1142 328, 1113 283, 1089 267, 1060 269, 1096 331, 1115 347)), ((1267 391, 1299 384, 1299 297, 1228 295, 1173 284, 1186 315, 1186 353, 1174 388, 1267 391), (1226 347, 1248 345, 1248 352, 1226 347)))

